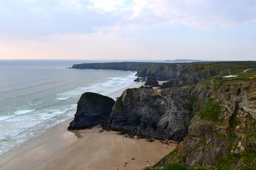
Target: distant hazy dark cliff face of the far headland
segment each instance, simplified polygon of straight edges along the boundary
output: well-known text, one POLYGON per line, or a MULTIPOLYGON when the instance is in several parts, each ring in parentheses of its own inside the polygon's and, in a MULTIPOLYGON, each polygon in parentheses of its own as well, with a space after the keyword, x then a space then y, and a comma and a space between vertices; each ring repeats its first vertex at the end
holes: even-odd
POLYGON ((154 74, 157 80, 170 80, 164 88, 184 84, 196 84, 211 76, 219 75, 220 69, 213 67, 194 67, 193 63, 83 63, 73 65, 73 69, 114 69, 123 71, 137 71, 137 76, 146 77, 154 74))

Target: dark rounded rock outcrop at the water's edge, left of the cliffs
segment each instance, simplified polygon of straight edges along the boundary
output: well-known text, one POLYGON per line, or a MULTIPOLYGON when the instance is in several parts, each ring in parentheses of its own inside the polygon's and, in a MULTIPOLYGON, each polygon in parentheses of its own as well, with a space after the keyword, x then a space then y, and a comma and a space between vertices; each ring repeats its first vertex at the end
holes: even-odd
POLYGON ((68 129, 86 129, 108 122, 114 99, 98 93, 86 92, 77 103, 74 120, 68 129))

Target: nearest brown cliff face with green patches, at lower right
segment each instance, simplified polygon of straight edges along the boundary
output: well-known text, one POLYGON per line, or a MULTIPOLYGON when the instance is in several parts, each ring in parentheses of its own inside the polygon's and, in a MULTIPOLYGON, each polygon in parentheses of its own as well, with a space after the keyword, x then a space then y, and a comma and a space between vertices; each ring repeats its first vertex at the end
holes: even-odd
POLYGON ((229 81, 211 89, 179 150, 155 167, 171 163, 217 169, 256 167, 256 82, 229 81))

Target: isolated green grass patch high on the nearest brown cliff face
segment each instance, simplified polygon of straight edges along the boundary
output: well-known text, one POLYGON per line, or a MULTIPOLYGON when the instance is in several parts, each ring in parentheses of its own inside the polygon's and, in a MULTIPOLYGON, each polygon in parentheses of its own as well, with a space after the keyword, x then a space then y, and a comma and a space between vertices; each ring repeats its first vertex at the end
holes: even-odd
POLYGON ((209 98, 204 107, 198 112, 198 115, 203 120, 218 122, 220 113, 221 107, 215 104, 213 98, 209 98))

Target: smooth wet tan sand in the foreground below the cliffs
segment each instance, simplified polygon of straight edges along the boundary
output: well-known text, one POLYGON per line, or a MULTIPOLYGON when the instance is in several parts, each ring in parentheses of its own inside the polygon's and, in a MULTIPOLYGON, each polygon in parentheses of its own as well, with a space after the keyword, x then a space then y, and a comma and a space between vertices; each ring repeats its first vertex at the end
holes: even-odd
POLYGON ((67 131, 69 122, 1 156, 0 169, 142 169, 177 147, 99 132, 99 128, 67 131))

